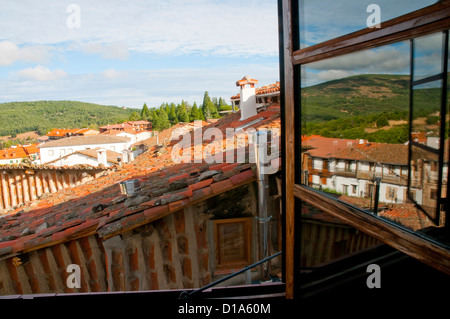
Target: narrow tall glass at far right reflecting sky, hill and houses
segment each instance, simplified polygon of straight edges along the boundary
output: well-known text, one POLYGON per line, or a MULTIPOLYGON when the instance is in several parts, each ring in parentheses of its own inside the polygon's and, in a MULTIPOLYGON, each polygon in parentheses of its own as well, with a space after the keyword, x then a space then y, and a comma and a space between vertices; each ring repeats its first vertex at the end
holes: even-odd
POLYGON ((409 196, 432 221, 432 226, 438 227, 444 223, 441 220, 444 215, 440 213, 440 189, 446 189, 446 185, 441 185, 441 181, 445 182, 440 171, 444 167, 439 163, 444 40, 445 33, 412 40, 414 81, 409 196))

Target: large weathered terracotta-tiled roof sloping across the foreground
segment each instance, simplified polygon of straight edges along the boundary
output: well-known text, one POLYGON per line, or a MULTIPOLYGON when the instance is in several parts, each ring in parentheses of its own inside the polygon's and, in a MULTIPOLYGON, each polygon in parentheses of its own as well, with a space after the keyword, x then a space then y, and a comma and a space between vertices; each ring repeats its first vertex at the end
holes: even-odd
MULTIPOLYGON (((253 127, 279 127, 279 105, 246 121, 239 118, 239 113, 231 114, 204 126, 203 131, 217 127, 225 137, 226 128, 239 127, 255 118, 263 120, 253 127)), ((0 256, 91 234, 109 238, 256 179, 255 164, 248 161, 175 164, 171 150, 178 141, 161 138, 176 127, 161 133, 162 145, 152 145, 133 163, 82 186, 48 194, 0 218, 0 256), (141 189, 137 196, 127 198, 120 193, 118 183, 129 179, 138 179, 141 189)), ((208 143, 203 141, 204 146, 208 143)))

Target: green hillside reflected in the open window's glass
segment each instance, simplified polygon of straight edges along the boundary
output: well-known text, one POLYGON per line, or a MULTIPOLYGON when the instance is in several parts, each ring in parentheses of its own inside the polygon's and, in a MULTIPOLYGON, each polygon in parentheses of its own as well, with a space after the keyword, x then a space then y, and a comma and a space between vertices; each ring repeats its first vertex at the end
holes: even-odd
MULTIPOLYGON (((302 89, 302 134, 403 143, 408 139, 409 76, 357 75, 302 89)), ((432 120, 439 90, 414 91, 414 118, 432 120)))

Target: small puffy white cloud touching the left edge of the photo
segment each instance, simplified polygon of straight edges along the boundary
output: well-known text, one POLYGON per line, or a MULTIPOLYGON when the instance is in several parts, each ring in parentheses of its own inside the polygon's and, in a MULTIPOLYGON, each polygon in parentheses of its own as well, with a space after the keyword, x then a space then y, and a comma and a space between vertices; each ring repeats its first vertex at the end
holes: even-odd
POLYGON ((11 41, 0 42, 0 66, 12 65, 15 62, 41 63, 49 58, 48 48, 43 45, 19 48, 11 41))

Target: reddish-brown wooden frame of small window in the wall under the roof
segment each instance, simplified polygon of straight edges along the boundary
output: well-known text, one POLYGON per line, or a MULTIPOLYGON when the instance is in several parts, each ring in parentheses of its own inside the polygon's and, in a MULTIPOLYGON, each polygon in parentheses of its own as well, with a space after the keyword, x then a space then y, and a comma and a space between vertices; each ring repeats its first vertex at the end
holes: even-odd
POLYGON ((240 269, 251 264, 251 246, 252 246, 252 218, 228 218, 214 219, 214 242, 215 242, 215 271, 240 269), (237 261, 221 261, 220 260, 220 232, 218 228, 224 224, 243 224, 244 225, 244 252, 245 257, 237 261))

